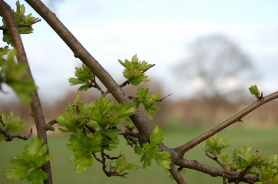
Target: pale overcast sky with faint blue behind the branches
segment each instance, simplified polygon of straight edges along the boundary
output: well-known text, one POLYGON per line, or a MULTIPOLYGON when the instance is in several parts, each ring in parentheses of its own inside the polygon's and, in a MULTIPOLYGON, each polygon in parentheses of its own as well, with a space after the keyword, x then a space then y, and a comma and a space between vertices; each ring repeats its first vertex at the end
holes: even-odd
MULTIPOLYGON (((8 3, 15 8, 15 1, 8 3)), ((40 17, 25 1, 20 3, 40 17)), ((147 72, 151 82, 163 81, 165 93, 173 92, 173 99, 190 97, 194 83, 177 80, 172 67, 188 56, 186 47, 197 37, 221 33, 239 44, 262 77, 247 83, 246 89, 257 84, 264 94, 278 90, 276 0, 64 0, 52 10, 117 83, 124 81, 117 60, 130 60, 137 53, 140 60, 156 64, 147 72)), ((34 33, 22 39, 40 96, 62 97, 81 62, 43 19, 33 28, 34 33)), ((0 42, 0 47, 4 45, 0 42)), ((0 94, 0 99, 9 95, 0 94)))

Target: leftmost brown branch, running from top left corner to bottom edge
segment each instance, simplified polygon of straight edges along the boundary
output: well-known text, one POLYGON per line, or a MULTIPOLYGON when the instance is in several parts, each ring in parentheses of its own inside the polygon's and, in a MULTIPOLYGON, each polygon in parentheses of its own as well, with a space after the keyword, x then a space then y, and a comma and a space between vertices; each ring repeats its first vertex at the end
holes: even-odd
MULTIPOLYGON (((15 21, 15 17, 13 15, 13 11, 11 10, 10 6, 8 6, 8 4, 5 3, 3 0, 0 0, 0 16, 3 17, 3 19, 5 19, 6 24, 8 26, 8 32, 10 33, 11 41, 13 42, 13 46, 17 50, 17 60, 28 65, 27 56, 24 51, 24 46, 19 34, 17 22, 15 21)), ((26 77, 33 78, 30 67, 27 68, 26 77)), ((47 133, 44 130, 45 120, 37 90, 31 92, 31 98, 33 100, 31 102, 31 110, 34 115, 38 137, 44 140, 44 144, 47 144, 47 133)), ((49 150, 47 150, 46 154, 49 154, 49 150)), ((42 170, 44 170, 44 172, 47 172, 48 174, 48 178, 44 181, 44 184, 52 184, 50 162, 44 164, 42 166, 42 170)))

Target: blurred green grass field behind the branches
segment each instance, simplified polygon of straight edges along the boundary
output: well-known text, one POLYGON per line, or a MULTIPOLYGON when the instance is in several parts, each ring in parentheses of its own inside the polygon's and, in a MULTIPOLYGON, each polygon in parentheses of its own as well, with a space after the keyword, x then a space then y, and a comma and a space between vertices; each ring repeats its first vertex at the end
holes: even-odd
MULTIPOLYGON (((234 126, 236 127, 236 126, 234 126)), ((199 133, 202 133, 203 130, 197 128, 183 128, 184 131, 164 131, 163 135, 165 140, 163 141, 167 147, 178 147, 179 145, 187 142, 191 138, 197 136, 199 133)), ((164 129, 163 129, 164 130, 164 129)), ((165 129, 166 130, 166 129, 165 129)), ((246 142, 249 142, 252 146, 252 149, 258 149, 264 151, 268 155, 272 153, 278 153, 278 128, 272 128, 268 130, 244 130, 242 128, 227 128, 227 130, 218 133, 218 137, 227 138, 228 144, 230 147, 226 149, 228 154, 231 156, 231 150, 235 147, 240 149, 246 142)), ((33 138, 33 137, 32 137, 33 138)), ((131 170, 126 178, 113 177, 108 178, 101 170, 101 165, 99 162, 94 160, 92 167, 88 168, 85 172, 81 174, 76 174, 73 167, 74 163, 70 163, 69 159, 72 156, 72 151, 67 149, 68 137, 59 135, 49 137, 49 150, 53 160, 51 160, 51 168, 54 178, 54 183, 175 183, 170 181, 170 178, 167 177, 167 174, 161 167, 156 166, 154 161, 151 167, 145 169, 136 169, 131 170)), ((4 168, 7 165, 10 165, 10 156, 17 156, 22 153, 24 145, 29 143, 29 141, 23 140, 13 140, 13 142, 1 142, 0 144, 0 183, 8 184, 12 182, 6 181, 4 178, 4 168)), ((140 167, 142 167, 142 162, 140 162, 140 156, 133 154, 133 149, 125 145, 125 142, 120 144, 120 149, 118 151, 108 152, 111 156, 117 156, 122 149, 125 153, 126 159, 129 162, 134 162, 140 167)), ((185 158, 191 160, 197 160, 207 165, 213 165, 218 167, 218 165, 210 160, 204 155, 202 148, 205 143, 199 144, 194 149, 188 151, 185 154, 185 158)), ((183 174, 183 178, 186 182, 189 183, 222 183, 222 178, 213 178, 206 174, 195 172, 189 170, 186 174, 183 174)), ((23 181, 16 181, 15 183, 29 183, 26 179, 23 181)))

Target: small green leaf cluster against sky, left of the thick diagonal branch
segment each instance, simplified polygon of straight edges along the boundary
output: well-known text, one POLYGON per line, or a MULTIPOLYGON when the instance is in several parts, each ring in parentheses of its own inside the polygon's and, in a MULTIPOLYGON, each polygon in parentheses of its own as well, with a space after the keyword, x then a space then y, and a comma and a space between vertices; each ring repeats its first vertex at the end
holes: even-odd
POLYGON ((75 76, 76 78, 71 77, 69 79, 69 82, 71 85, 79 85, 81 84, 81 87, 79 87, 78 91, 87 91, 91 86, 93 78, 95 77, 94 74, 86 67, 84 64, 82 64, 81 67, 75 67, 75 76))

